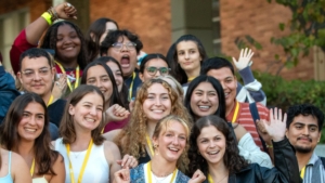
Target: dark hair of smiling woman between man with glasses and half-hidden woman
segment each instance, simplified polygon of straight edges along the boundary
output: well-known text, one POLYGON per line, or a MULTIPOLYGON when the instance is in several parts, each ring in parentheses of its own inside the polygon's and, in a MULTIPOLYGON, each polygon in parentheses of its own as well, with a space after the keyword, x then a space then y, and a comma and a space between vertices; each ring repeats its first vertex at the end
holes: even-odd
MULTIPOLYGON (((96 66, 96 65, 100 65, 100 66, 104 67, 104 69, 106 70, 106 73, 107 73, 107 75, 108 75, 108 77, 110 79, 110 82, 112 82, 113 92, 112 92, 112 96, 109 99, 109 106, 112 106, 114 104, 122 105, 122 102, 121 102, 121 100, 119 97, 119 93, 118 93, 118 89, 117 89, 117 84, 116 84, 114 75, 113 75, 110 68, 105 63, 102 63, 102 62, 99 62, 99 61, 95 60, 94 62, 88 64, 87 67, 82 71, 81 84, 87 84, 87 73, 88 73, 88 69, 90 67, 93 67, 93 66, 96 66)), ((108 108, 109 106, 106 106, 106 107, 108 108)))

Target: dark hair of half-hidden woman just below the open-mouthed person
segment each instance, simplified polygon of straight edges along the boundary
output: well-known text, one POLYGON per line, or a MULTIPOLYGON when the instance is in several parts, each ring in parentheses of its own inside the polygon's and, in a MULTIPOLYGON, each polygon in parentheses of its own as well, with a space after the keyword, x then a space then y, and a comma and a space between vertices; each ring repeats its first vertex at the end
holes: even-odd
MULTIPOLYGON (((102 62, 104 64, 107 64, 109 62, 115 63, 118 66, 118 69, 120 70, 121 76, 123 76, 123 71, 121 69, 121 66, 120 66, 119 62, 117 62, 114 57, 112 57, 112 56, 102 56, 102 57, 96 58, 95 61, 102 62)), ((121 106, 125 107, 126 109, 129 109, 128 94, 129 94, 129 89, 128 89, 128 87, 127 87, 127 84, 125 82, 125 79, 123 79, 122 88, 121 88, 121 90, 119 92, 119 99, 120 99, 120 101, 122 103, 121 106)))

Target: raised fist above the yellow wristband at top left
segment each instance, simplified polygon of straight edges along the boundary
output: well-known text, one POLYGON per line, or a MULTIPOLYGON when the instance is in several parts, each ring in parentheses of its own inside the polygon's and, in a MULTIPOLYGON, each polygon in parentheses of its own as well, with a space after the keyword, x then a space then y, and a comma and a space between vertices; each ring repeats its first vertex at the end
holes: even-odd
POLYGON ((58 18, 77 19, 77 9, 68 2, 57 4, 53 9, 55 10, 58 18))

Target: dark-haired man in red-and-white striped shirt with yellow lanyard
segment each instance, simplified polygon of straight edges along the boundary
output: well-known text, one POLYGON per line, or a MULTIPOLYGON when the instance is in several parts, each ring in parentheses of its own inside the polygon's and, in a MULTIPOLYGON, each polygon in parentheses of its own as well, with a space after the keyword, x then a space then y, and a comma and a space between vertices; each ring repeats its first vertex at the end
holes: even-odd
MULTIPOLYGON (((226 120, 236 122, 242 126, 251 134, 255 143, 263 149, 262 141, 259 136, 257 126, 255 125, 249 103, 240 103, 236 100, 237 94, 237 79, 234 74, 234 66, 222 57, 211 57, 203 62, 200 67, 202 75, 214 77, 221 83, 226 105, 226 120)), ((257 103, 257 110, 260 119, 269 120, 269 109, 260 103, 257 103)), ((266 134, 263 135, 266 146, 272 144, 271 138, 266 134), (264 138, 265 136, 265 138, 264 138)), ((269 151, 272 155, 272 149, 269 151)))

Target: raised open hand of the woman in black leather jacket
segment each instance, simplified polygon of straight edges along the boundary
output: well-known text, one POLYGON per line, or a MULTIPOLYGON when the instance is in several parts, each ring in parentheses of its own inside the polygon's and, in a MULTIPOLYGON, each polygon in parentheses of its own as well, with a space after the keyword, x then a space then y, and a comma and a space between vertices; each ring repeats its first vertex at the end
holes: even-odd
POLYGON ((285 136, 286 132, 286 121, 287 114, 284 114, 284 118, 282 118, 282 109, 277 109, 276 107, 270 109, 270 123, 265 120, 261 120, 264 123, 265 131, 272 138, 274 142, 282 141, 285 136))

